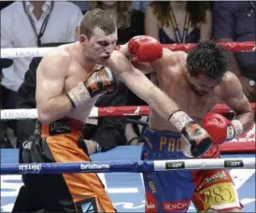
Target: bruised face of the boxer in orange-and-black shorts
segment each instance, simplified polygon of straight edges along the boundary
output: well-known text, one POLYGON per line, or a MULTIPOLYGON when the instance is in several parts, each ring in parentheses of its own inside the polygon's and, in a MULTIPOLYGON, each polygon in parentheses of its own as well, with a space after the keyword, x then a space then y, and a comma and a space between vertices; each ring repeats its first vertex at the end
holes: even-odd
POLYGON ((93 63, 100 64, 105 62, 113 52, 118 40, 117 31, 106 35, 105 32, 96 27, 90 38, 86 38, 84 42, 80 42, 86 58, 93 63))

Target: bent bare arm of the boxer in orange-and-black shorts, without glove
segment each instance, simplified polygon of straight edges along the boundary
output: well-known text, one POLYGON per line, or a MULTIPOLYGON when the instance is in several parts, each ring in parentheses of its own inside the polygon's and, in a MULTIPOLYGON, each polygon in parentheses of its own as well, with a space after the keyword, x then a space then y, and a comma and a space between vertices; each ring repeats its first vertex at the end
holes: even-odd
POLYGON ((70 58, 65 52, 51 52, 36 70, 36 107, 38 120, 50 123, 61 119, 74 108, 64 93, 64 81, 70 58))

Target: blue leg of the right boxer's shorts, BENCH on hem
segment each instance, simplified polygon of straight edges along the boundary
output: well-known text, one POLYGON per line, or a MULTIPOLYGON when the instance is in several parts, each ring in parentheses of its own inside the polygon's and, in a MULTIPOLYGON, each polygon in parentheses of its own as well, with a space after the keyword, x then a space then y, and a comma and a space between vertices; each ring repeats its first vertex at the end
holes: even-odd
MULTIPOLYGON (((169 134, 145 132, 142 160, 186 159, 178 138, 169 134)), ((171 164, 166 165, 170 166, 171 164)), ((174 166, 174 165, 173 165, 174 166)), ((186 212, 190 206, 193 184, 191 171, 144 173, 145 212, 186 212)))

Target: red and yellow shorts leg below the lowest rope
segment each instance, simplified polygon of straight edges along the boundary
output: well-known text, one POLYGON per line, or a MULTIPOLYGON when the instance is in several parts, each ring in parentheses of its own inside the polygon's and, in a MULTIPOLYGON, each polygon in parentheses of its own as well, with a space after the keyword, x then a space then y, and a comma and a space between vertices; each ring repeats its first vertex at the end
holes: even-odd
POLYGON ((243 207, 229 172, 225 169, 194 172, 194 206, 202 212, 240 212, 243 207))

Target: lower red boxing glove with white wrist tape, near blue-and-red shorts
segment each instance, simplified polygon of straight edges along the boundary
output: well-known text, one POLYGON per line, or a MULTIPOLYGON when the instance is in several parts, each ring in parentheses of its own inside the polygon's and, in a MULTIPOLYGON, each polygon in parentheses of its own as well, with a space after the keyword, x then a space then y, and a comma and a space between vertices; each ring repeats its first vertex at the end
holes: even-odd
POLYGON ((243 125, 240 121, 229 121, 215 112, 206 114, 203 128, 211 135, 214 144, 230 141, 243 133, 243 125))

